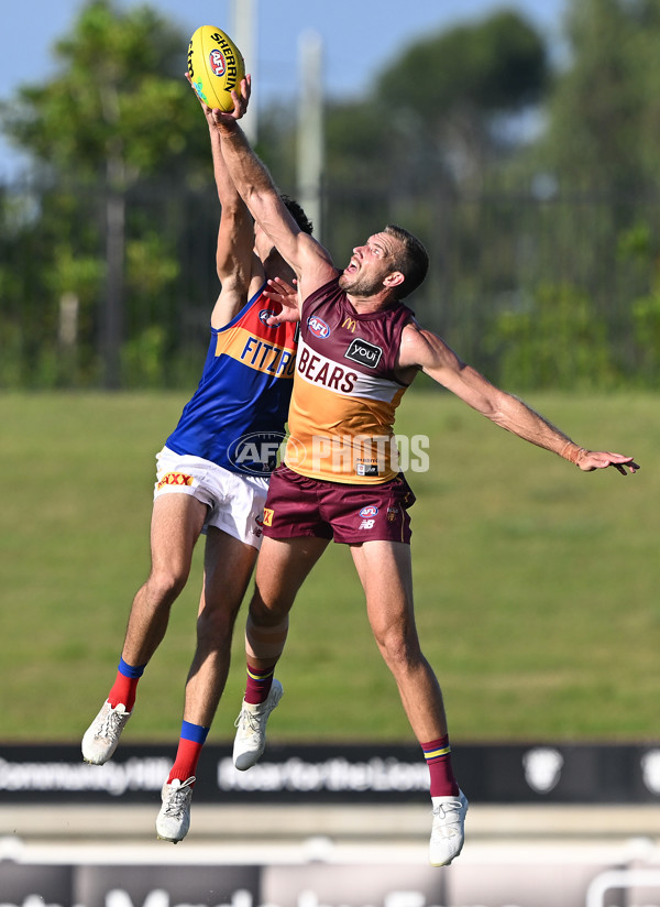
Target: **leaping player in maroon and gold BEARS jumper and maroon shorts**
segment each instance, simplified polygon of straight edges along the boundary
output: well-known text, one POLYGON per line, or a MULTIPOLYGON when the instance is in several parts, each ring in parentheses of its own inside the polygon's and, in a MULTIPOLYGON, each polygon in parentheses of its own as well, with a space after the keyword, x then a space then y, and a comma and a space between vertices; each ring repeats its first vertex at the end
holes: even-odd
MULTIPOLYGON (((425 278, 422 244, 386 227, 353 250, 343 271, 300 232, 237 120, 249 79, 234 92, 234 111, 213 111, 237 189, 256 222, 297 275, 300 342, 289 411, 286 462, 273 474, 264 510, 264 543, 248 621, 248 662, 272 676, 288 612, 305 578, 334 538, 350 545, 366 595, 372 631, 392 670, 430 771, 433 826, 430 862, 447 865, 463 844, 468 800, 453 776, 440 686, 415 627, 408 506, 398 473, 394 413, 424 371, 495 424, 588 472, 637 470, 631 457, 586 450, 525 403, 498 390, 400 302, 425 278), (290 452, 289 452, 290 450, 290 452)), ((286 293, 284 294, 286 296, 286 293)), ((283 298, 284 298, 283 296, 283 298)), ((248 690, 252 690, 249 678, 248 690)), ((261 695, 266 696, 267 682, 261 695)), ((239 722, 237 767, 263 752, 267 709, 239 722)))

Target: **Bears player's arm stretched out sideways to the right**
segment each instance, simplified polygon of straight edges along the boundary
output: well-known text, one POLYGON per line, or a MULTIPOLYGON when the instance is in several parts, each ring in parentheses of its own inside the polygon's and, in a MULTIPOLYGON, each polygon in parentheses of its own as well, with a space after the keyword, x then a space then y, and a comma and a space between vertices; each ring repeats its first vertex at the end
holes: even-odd
POLYGON ((414 368, 422 369, 496 425, 558 454, 580 467, 583 472, 613 466, 622 476, 626 476, 626 469, 630 472, 639 469, 632 457, 580 447, 521 400, 501 391, 475 369, 462 362, 440 337, 410 325, 405 328, 402 338, 399 369, 405 371, 414 368))

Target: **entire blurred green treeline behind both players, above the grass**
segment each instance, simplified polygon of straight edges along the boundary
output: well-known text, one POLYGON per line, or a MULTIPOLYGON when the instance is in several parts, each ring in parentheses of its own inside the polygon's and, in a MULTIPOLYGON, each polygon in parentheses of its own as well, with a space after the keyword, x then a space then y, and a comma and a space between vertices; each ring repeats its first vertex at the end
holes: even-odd
MULTIPOLYGON (((4 106, 36 166, 0 187, 0 385, 98 383, 109 331, 123 386, 197 378, 218 205, 187 40, 154 8, 90 0, 53 78, 4 106)), ((341 262, 385 222, 419 234, 414 307, 495 381, 660 386, 660 4, 573 0, 565 48, 552 72, 502 11, 329 102, 323 242, 341 262), (542 131, 509 128, 530 111, 542 131)), ((264 111, 256 149, 286 192, 294 112, 264 111)))

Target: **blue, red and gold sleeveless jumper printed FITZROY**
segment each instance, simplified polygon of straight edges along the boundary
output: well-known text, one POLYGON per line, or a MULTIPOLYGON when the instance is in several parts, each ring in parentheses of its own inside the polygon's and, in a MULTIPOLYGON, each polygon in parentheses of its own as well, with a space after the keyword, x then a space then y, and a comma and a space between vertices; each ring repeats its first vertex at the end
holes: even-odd
POLYGON ((176 454, 204 457, 231 472, 268 476, 284 437, 298 325, 267 325, 279 307, 264 286, 216 330, 197 391, 166 440, 176 454))

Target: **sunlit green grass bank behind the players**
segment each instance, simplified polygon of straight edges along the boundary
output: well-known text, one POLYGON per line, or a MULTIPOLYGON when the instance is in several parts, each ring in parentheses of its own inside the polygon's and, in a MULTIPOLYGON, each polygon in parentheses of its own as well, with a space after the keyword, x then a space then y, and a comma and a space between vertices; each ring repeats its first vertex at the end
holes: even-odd
MULTIPOLYGON (((419 632, 454 742, 659 737, 658 400, 527 395, 580 444, 639 474, 581 473, 455 397, 411 391, 399 434, 427 434, 409 473, 419 632)), ((0 740, 78 741, 111 684, 148 567, 153 457, 185 396, 0 396, 0 740)), ((194 645, 199 548, 141 681, 133 742, 176 740, 194 645)), ((211 732, 233 736, 234 659, 211 732)), ((331 546, 294 609, 279 741, 408 741, 350 555, 331 546)))

